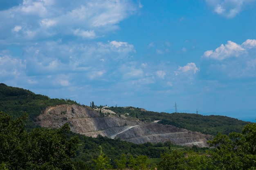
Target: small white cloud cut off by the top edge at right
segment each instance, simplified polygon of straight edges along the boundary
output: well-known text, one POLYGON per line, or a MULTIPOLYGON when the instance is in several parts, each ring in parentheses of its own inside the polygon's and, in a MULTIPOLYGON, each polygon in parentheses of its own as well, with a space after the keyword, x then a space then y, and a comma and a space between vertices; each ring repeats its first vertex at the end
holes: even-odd
POLYGON ((227 18, 234 18, 238 13, 243 11, 245 7, 255 0, 205 0, 212 7, 213 11, 218 15, 227 18))

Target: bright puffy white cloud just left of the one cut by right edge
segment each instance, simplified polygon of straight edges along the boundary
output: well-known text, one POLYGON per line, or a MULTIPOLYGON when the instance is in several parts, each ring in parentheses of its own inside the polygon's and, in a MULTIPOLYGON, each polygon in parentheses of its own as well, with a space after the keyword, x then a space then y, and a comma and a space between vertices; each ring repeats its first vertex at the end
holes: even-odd
POLYGON ((246 53, 246 50, 241 45, 228 41, 225 45, 221 44, 215 51, 205 51, 202 57, 224 60, 230 57, 239 57, 243 53, 246 53))

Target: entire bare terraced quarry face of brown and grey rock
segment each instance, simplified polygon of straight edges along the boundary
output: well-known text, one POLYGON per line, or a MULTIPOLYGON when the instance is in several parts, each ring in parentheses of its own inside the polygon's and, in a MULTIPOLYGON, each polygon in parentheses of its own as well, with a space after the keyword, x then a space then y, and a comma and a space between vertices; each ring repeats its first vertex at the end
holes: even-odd
POLYGON ((102 135, 112 139, 120 138, 135 144, 172 141, 179 145, 205 147, 206 141, 211 138, 210 135, 171 125, 157 124, 157 122, 144 123, 124 115, 118 116, 113 112, 108 115, 106 110, 102 112, 106 116, 101 117, 99 112, 89 107, 60 105, 47 108, 38 117, 40 121, 36 124, 58 128, 69 123, 72 132, 92 137, 102 135))

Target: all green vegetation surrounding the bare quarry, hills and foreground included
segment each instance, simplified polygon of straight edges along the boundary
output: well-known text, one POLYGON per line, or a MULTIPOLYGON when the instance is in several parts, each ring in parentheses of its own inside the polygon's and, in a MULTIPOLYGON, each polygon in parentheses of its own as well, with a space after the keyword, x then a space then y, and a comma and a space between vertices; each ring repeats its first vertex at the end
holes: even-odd
POLYGON ((0 113, 0 169, 146 170, 157 166, 160 170, 256 170, 256 124, 225 116, 108 108, 133 119, 160 120, 161 124, 215 135, 209 141, 211 149, 196 146, 180 149, 171 142, 137 145, 102 136, 85 137, 69 132, 67 124, 55 130, 35 128, 36 117, 47 106, 59 104, 77 103, 0 84, 0 112, 9 113, 0 113))

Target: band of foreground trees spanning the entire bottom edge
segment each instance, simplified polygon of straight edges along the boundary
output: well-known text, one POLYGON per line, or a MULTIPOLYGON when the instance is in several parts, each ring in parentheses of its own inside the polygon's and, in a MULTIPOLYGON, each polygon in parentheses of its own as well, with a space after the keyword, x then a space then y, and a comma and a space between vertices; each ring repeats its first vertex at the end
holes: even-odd
POLYGON ((89 161, 74 161, 81 140, 76 135, 68 135, 68 124, 58 129, 34 128, 28 132, 26 121, 26 113, 13 119, 0 112, 0 169, 256 170, 256 123, 247 124, 241 133, 218 133, 208 141, 211 148, 203 152, 168 150, 160 154, 156 163, 152 163, 146 155, 129 152, 111 160, 102 146, 89 161))

